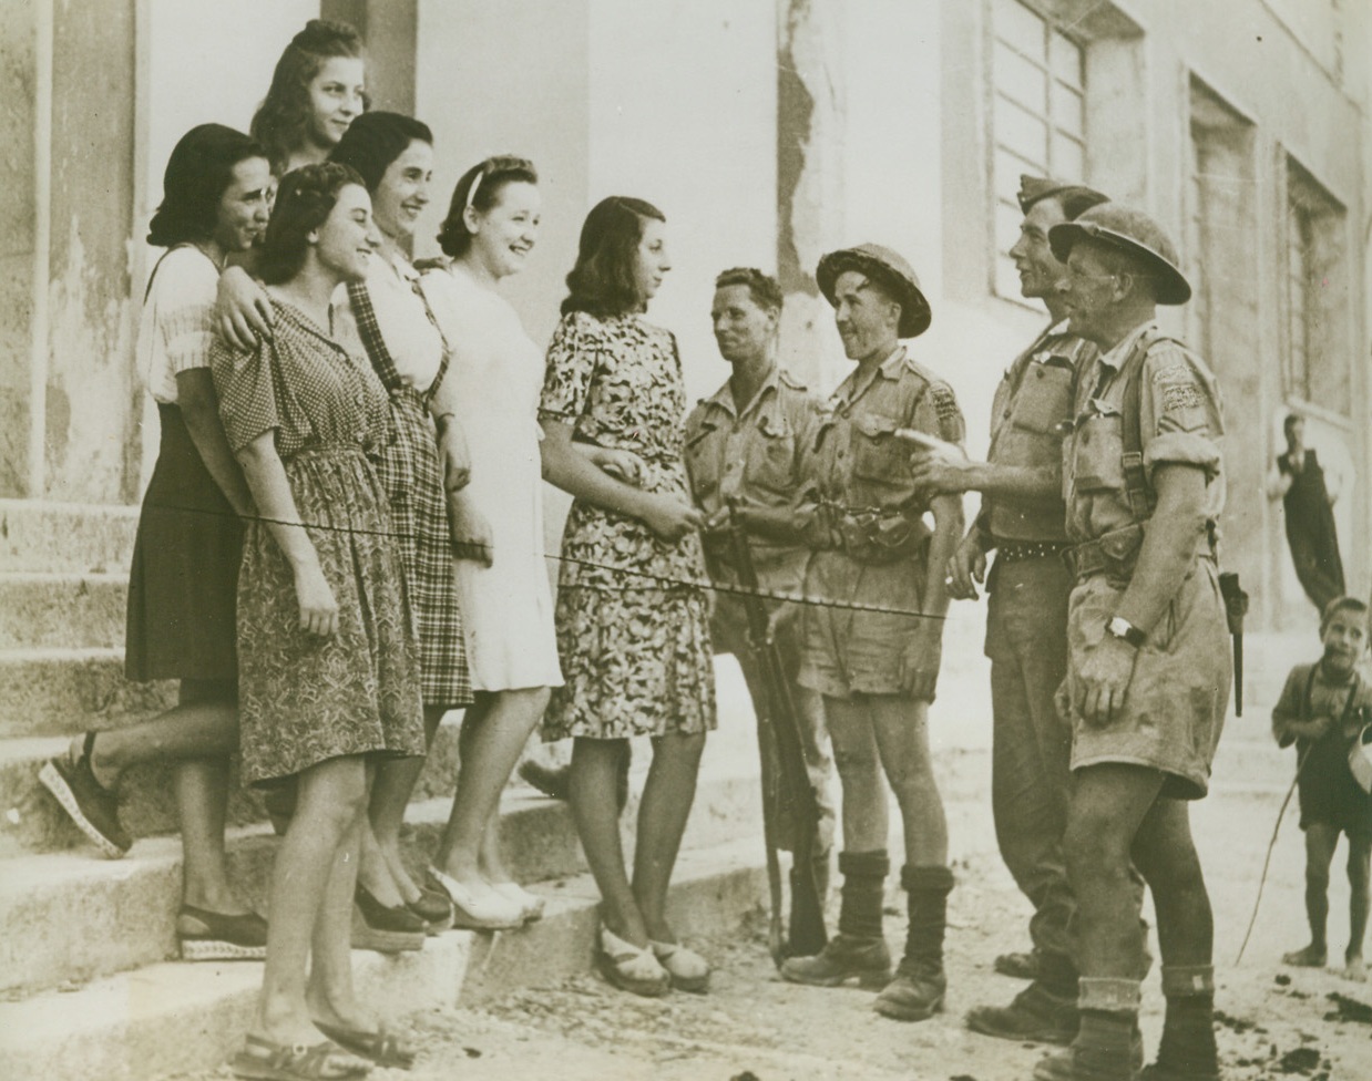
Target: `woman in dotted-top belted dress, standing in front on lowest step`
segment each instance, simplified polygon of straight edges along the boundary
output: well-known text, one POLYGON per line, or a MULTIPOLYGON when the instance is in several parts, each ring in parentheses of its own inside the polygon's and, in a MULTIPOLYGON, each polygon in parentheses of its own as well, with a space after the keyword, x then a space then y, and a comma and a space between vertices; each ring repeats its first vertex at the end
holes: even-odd
POLYGON ((210 354, 257 508, 239 575, 243 779, 294 778, 298 792, 272 870, 262 995, 230 1063, 239 1077, 340 1078, 366 1059, 413 1060, 357 1001, 350 952, 369 774, 424 753, 414 627, 376 472, 390 399, 331 333, 331 299, 365 280, 372 230, 351 169, 288 173, 262 244, 272 340, 217 339, 210 354))

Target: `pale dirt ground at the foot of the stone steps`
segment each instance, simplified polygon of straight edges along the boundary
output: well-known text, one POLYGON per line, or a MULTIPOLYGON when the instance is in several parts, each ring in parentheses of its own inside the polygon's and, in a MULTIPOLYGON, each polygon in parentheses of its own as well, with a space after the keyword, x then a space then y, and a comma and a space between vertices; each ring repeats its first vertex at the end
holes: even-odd
MULTIPOLYGON (((1266 737, 1266 711, 1232 722, 1211 797, 1195 826, 1216 907, 1220 1049, 1229 1081, 1372 1078, 1372 985, 1334 971, 1286 970, 1284 951, 1303 945, 1303 856, 1288 811, 1262 907, 1242 964, 1235 964, 1258 886, 1262 857, 1290 779, 1288 755, 1266 737)), ((977 742, 963 739, 958 742, 977 742)), ((871 993, 781 982, 766 949, 764 914, 696 942, 715 963, 709 995, 635 999, 595 977, 528 988, 483 1008, 410 1018, 423 1058, 414 1081, 819 1081, 820 1078, 1028 1078, 1041 1047, 975 1036, 962 1015, 1007 1001, 1018 985, 992 973, 1004 949, 1024 948, 1028 907, 995 853, 980 793, 985 750, 940 752, 959 886, 948 931, 947 1012, 903 1025, 871 1010, 871 993)), ((886 934, 903 941, 900 894, 888 897, 886 934)), ((837 915, 837 914, 831 914, 837 915)), ((1331 953, 1342 956, 1347 883, 1331 890, 1331 953)), ((1152 944, 1157 952, 1157 944, 1152 944)), ((1143 1027, 1151 1052, 1162 1023, 1157 970, 1144 989, 1143 1027)), ((388 1074, 373 1074, 387 1077, 388 1074)), ((394 1074, 395 1078, 402 1074, 394 1074)))

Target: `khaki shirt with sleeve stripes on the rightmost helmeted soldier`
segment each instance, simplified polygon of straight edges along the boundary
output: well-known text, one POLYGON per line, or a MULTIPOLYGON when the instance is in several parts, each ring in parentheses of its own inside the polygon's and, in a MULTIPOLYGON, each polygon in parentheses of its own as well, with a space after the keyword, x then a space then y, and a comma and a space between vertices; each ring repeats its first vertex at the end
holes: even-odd
MULTIPOLYGON (((1077 384, 1074 428, 1063 443, 1062 490, 1067 503, 1067 536, 1093 540, 1135 523, 1125 498, 1124 391, 1118 379, 1154 322, 1129 332, 1083 372, 1077 384)), ((1206 519, 1224 509, 1224 461, 1220 442, 1224 420, 1214 376, 1194 353, 1172 340, 1158 342, 1139 373, 1139 433, 1143 468, 1151 484, 1158 465, 1190 465, 1206 475, 1206 519)))

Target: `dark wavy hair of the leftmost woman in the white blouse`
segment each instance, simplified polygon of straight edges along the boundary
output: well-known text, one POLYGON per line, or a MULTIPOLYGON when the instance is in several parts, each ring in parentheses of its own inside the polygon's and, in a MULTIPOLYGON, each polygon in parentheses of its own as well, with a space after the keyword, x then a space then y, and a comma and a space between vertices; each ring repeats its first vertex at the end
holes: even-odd
POLYGON ((220 200, 233 181, 233 166, 266 158, 257 140, 202 123, 177 141, 162 178, 162 204, 148 222, 148 243, 159 248, 209 240, 220 221, 220 200))

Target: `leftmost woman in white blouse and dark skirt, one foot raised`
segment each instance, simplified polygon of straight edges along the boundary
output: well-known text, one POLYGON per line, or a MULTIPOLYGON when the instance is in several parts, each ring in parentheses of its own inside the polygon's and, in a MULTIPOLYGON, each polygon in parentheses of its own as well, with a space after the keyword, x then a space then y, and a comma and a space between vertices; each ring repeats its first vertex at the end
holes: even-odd
POLYGON ((251 501, 220 424, 210 376, 214 291, 225 259, 266 228, 262 148, 217 123, 191 129, 167 162, 148 243, 167 248, 148 281, 137 358, 158 403, 162 446, 129 578, 125 671, 180 680, 180 704, 151 722, 78 737, 43 783, 99 848, 132 844, 114 789, 130 765, 172 761, 185 848, 176 931, 189 960, 261 958, 266 923, 229 885, 224 824, 237 749, 235 593, 251 501))

